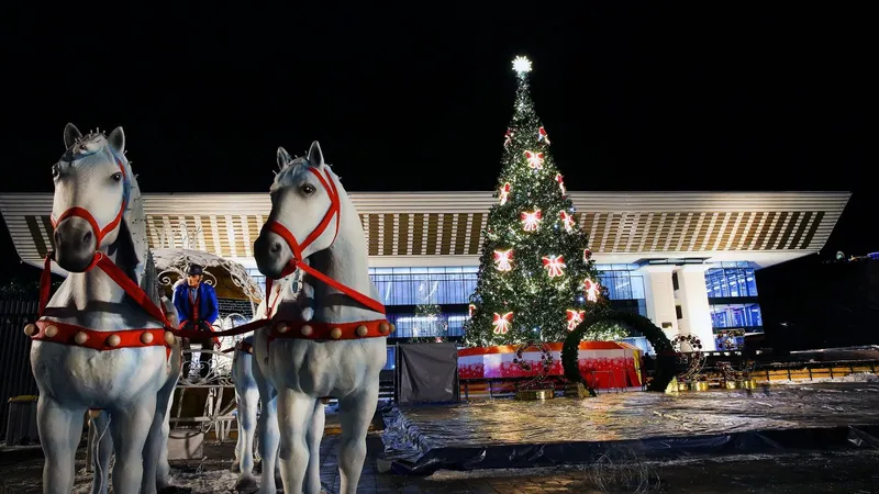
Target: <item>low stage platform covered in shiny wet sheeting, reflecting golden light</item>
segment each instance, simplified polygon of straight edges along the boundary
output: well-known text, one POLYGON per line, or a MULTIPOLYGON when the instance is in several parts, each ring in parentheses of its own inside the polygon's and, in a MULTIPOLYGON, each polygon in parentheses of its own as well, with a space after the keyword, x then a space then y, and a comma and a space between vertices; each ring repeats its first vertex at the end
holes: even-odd
POLYGON ((877 408, 876 382, 393 407, 385 413, 382 463, 396 474, 426 475, 590 463, 603 454, 879 448, 877 408))

